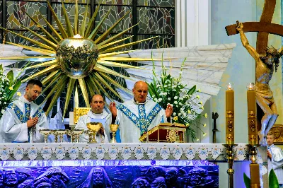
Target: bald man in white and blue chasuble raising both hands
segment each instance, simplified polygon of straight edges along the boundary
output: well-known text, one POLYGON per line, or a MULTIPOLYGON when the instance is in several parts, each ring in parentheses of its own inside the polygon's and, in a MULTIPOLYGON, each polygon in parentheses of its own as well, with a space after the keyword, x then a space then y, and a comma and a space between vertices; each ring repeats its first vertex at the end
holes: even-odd
POLYGON ((146 131, 156 127, 161 122, 167 122, 173 107, 166 110, 158 103, 146 100, 149 88, 144 81, 137 81, 133 88, 134 98, 120 105, 110 102, 110 111, 120 124, 120 139, 124 143, 138 143, 139 137, 146 131))

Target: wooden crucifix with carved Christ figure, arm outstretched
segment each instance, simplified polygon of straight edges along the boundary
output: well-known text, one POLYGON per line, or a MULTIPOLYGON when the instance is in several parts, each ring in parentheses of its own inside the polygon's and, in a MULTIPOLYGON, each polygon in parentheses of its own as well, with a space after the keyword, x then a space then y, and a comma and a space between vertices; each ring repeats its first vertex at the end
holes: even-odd
POLYGON ((225 27, 226 33, 229 36, 240 33, 243 46, 246 47, 250 55, 252 55, 256 61, 255 79, 258 87, 256 95, 259 120, 258 130, 261 130, 259 131, 260 143, 264 144, 266 144, 264 137, 272 128, 273 124, 275 124, 278 116, 272 91, 270 90, 268 83, 273 74, 273 64, 275 64, 276 71, 279 64, 279 57, 283 54, 282 49, 277 52, 276 49, 268 49, 267 47, 268 35, 270 33, 283 36, 283 25, 271 23, 275 5, 276 0, 265 0, 265 5, 259 22, 246 22, 225 27), (256 49, 248 44, 248 40, 244 34, 247 32, 258 32, 256 49), (267 49, 269 50, 268 52, 267 49))

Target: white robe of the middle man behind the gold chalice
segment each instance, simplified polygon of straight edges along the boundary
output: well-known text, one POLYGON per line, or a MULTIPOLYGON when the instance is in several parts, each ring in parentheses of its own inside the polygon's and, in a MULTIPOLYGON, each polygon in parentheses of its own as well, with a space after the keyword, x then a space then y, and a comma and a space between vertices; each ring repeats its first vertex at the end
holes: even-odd
MULTIPOLYGON (((88 111, 88 114, 85 114, 81 117, 79 117, 79 121, 76 124, 75 129, 79 130, 88 130, 88 127, 86 127, 87 123, 90 122, 100 122, 103 124, 104 128, 104 135, 101 135, 99 133, 96 134, 96 141, 98 143, 109 143, 108 138, 110 138, 110 124, 112 121, 112 114, 108 114, 105 110, 101 114, 94 114, 91 110, 88 111)), ((88 142, 88 135, 82 134, 79 138, 80 142, 88 142)))

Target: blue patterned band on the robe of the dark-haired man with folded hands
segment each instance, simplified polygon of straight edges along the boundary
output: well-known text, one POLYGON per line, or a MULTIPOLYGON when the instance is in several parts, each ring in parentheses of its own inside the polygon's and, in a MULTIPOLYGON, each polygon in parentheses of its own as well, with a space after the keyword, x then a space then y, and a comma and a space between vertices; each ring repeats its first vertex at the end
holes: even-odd
MULTIPOLYGON (((14 104, 10 103, 7 107, 7 109, 12 109, 18 119, 22 122, 28 122, 28 118, 30 117, 30 104, 24 103, 25 104, 25 114, 20 110, 20 108, 14 104)), ((38 110, 33 114, 33 117, 41 117, 41 115, 44 113, 41 107, 38 108, 38 110)), ((28 142, 30 142, 30 128, 28 128, 28 142)))

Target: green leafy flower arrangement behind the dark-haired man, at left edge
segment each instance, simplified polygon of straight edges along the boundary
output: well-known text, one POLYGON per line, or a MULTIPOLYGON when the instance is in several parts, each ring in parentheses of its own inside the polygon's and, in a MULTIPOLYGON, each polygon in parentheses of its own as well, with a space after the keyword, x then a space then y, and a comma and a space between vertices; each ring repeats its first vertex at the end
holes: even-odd
MULTIPOLYGON (((16 94, 18 88, 21 86, 21 75, 18 74, 16 78, 13 76, 13 71, 8 71, 8 74, 4 74, 3 66, 0 64, 0 118, 2 117, 8 104, 13 101, 13 97, 16 94)), ((21 93, 17 93, 21 96, 21 93)))

